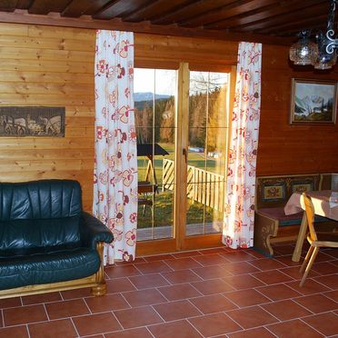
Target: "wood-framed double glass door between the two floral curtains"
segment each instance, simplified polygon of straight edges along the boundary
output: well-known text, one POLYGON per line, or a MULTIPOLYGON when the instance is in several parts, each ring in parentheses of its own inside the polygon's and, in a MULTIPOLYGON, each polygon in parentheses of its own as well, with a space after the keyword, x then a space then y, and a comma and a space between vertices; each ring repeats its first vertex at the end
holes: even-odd
POLYGON ((221 244, 230 80, 187 64, 134 70, 142 254, 221 244))

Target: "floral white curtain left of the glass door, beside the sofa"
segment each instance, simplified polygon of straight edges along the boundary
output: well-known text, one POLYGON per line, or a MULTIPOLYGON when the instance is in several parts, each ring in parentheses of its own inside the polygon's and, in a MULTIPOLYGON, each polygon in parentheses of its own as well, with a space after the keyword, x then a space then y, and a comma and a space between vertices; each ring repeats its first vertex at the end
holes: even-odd
POLYGON ((114 234, 104 264, 133 261, 137 227, 134 35, 96 33, 93 213, 114 234))

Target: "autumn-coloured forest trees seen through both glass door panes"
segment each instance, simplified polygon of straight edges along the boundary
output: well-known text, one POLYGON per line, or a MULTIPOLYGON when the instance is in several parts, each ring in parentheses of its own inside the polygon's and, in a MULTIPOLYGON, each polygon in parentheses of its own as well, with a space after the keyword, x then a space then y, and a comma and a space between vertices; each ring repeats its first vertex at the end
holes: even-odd
MULTIPOLYGON (((225 127, 225 93, 224 85, 209 92, 190 94, 189 146, 202 147, 207 152, 219 147, 218 133, 212 128, 225 127)), ((174 107, 174 96, 135 102, 137 142, 152 143, 154 137, 155 143, 173 144, 174 107)))

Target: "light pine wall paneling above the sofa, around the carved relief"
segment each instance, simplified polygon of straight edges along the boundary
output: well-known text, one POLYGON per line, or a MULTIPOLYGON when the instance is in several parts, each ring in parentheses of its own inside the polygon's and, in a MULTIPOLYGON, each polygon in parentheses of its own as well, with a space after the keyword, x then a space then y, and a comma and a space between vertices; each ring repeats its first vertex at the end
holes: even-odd
POLYGON ((0 104, 65 106, 65 137, 0 137, 2 182, 75 179, 92 210, 92 30, 0 24, 0 104))

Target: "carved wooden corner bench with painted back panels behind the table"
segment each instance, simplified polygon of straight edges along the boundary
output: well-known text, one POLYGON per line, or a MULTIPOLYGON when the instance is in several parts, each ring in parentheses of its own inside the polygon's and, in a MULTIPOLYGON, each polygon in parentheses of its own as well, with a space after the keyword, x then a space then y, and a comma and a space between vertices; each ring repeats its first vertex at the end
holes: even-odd
MULTIPOLYGON (((331 189, 333 174, 257 176, 254 212, 254 248, 273 256, 271 244, 295 241, 303 212, 285 215, 283 208, 295 192, 331 189)), ((316 217, 316 222, 327 222, 316 217)), ((332 223, 331 223, 332 224, 332 223)))

